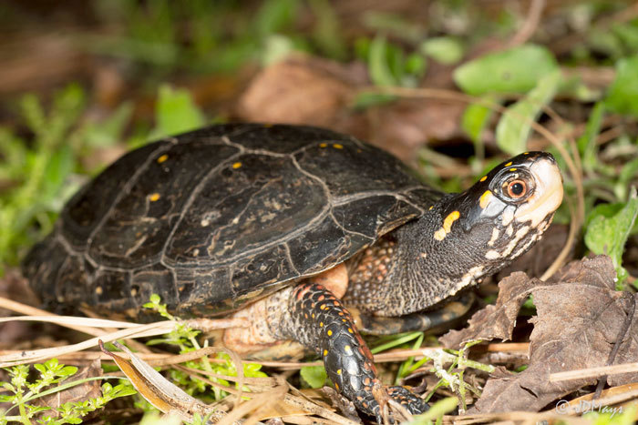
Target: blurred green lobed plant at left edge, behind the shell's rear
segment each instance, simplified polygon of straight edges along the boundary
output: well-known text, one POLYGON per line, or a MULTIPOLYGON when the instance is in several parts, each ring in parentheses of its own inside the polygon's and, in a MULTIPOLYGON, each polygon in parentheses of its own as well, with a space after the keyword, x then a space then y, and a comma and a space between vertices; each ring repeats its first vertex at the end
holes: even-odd
POLYGON ((22 123, 33 137, 0 126, 0 276, 15 266, 27 247, 51 231, 57 213, 87 173, 80 157, 119 140, 129 121, 129 104, 101 122, 83 120, 84 91, 67 86, 45 107, 35 95, 18 103, 22 123))

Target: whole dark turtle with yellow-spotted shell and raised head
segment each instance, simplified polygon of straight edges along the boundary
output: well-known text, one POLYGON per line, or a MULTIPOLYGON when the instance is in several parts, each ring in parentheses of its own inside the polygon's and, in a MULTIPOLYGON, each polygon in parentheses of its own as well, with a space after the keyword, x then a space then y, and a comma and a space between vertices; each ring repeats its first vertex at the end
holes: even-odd
POLYGON ((427 403, 381 383, 360 331, 448 318, 442 306, 527 251, 561 200, 545 152, 446 194, 331 130, 208 126, 132 150, 93 178, 23 272, 57 312, 148 319, 141 306, 159 294, 180 318, 247 318, 248 329, 226 331, 230 348, 297 341, 381 421, 390 399, 412 413, 427 403))

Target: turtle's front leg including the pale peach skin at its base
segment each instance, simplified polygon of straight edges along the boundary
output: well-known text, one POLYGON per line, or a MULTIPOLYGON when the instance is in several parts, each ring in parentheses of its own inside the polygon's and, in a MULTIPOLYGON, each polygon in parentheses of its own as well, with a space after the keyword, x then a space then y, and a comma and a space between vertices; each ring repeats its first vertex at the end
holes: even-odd
POLYGON ((415 394, 403 387, 385 387, 377 378, 372 354, 352 315, 331 290, 317 283, 323 281, 332 287, 321 276, 284 288, 235 313, 235 317, 248 319, 251 326, 228 329, 224 344, 248 354, 276 349, 282 340, 293 339, 319 354, 334 388, 379 423, 390 399, 410 413, 426 411, 427 403, 415 394))

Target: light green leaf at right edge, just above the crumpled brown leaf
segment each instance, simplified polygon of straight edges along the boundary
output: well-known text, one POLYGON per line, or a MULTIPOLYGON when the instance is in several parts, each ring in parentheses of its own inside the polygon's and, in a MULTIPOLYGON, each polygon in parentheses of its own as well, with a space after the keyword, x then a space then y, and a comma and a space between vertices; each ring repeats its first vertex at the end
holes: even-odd
POLYGON ((638 216, 636 188, 632 187, 629 201, 620 211, 612 217, 605 217, 604 212, 591 218, 585 232, 585 245, 594 254, 607 254, 612 258, 620 284, 627 278, 627 271, 622 266, 624 244, 638 216))

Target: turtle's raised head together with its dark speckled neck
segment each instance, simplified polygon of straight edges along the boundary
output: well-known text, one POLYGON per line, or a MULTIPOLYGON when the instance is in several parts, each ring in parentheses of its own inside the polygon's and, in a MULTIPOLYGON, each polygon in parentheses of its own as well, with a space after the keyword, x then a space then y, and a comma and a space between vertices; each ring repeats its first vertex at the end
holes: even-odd
POLYGON ((562 201, 562 177, 543 152, 513 157, 465 192, 442 197, 417 220, 397 228, 388 302, 396 316, 431 308, 505 268, 550 226, 562 201))

